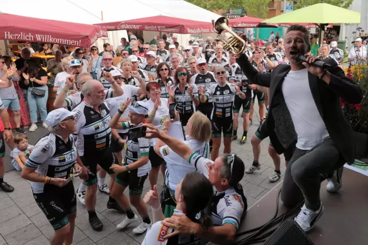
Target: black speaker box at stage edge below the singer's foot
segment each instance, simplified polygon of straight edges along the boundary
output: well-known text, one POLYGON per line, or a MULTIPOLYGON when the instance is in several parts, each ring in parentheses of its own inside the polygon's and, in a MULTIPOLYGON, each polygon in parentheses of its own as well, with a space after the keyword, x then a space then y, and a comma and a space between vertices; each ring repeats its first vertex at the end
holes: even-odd
POLYGON ((314 245, 294 220, 286 220, 265 245, 314 245))

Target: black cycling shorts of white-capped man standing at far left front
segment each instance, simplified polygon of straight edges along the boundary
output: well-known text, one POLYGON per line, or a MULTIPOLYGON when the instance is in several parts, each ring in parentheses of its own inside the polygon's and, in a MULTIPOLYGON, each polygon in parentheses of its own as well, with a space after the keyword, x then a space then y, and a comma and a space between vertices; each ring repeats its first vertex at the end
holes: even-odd
POLYGON ((54 230, 67 225, 69 223, 67 215, 77 211, 77 200, 72 181, 63 187, 45 185, 43 193, 33 193, 33 197, 54 230))

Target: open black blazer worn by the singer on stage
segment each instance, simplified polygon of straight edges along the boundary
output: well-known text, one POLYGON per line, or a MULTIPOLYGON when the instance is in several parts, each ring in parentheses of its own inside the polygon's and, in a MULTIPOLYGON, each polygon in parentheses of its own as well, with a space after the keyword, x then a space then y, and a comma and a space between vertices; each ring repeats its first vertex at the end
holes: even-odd
MULTIPOLYGON (((355 159, 354 135, 349 122, 342 113, 340 98, 354 104, 360 103, 363 99, 362 90, 345 76, 344 71, 336 65, 336 61, 332 59, 324 61, 334 66, 329 71, 331 81, 326 84, 316 75, 308 72, 310 90, 330 138, 345 158, 346 163, 352 164, 355 159)), ((271 74, 266 74, 258 72, 244 54, 237 59, 237 62, 251 82, 270 88, 266 126, 272 145, 276 152, 281 154, 298 139, 281 90, 282 82, 291 67, 280 64, 271 74)))

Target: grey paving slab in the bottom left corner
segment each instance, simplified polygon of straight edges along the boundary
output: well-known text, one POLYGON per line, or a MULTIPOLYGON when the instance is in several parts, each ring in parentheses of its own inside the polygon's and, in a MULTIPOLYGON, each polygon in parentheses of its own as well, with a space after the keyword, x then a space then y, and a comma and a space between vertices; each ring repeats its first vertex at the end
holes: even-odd
POLYGON ((5 236, 4 239, 8 245, 22 245, 41 235, 42 233, 36 225, 31 224, 5 236))

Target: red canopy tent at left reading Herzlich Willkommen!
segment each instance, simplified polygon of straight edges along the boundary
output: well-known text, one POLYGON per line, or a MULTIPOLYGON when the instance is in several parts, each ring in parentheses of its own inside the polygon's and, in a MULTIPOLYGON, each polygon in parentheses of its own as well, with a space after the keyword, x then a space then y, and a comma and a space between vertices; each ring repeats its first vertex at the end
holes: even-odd
POLYGON ((101 26, 0 13, 0 40, 89 47, 100 37, 108 37, 101 26))

